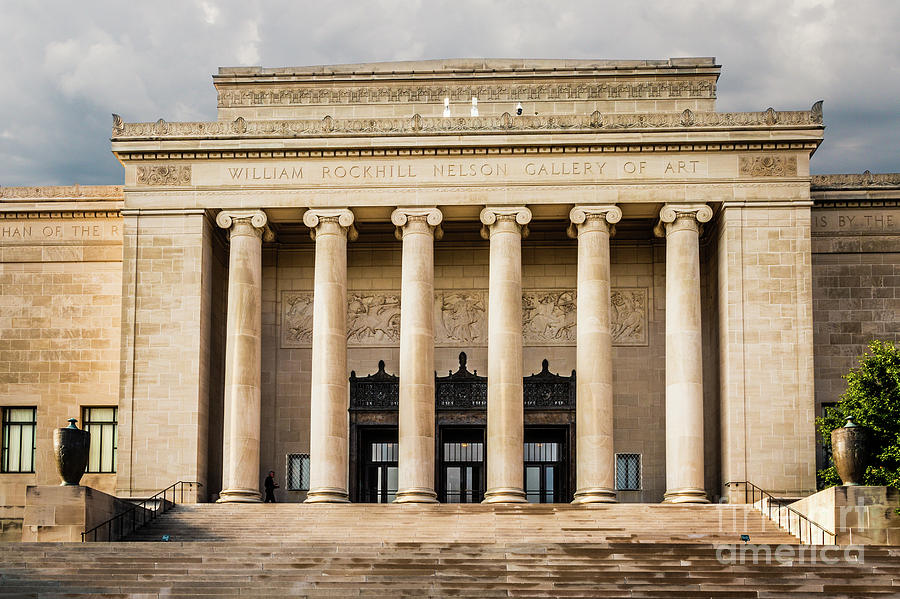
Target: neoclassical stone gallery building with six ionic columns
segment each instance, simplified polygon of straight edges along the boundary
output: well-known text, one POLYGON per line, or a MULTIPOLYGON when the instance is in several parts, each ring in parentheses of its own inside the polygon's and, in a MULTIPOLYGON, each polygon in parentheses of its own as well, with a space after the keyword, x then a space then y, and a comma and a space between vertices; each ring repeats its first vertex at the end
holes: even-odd
POLYGON ((719 71, 222 68, 215 122, 114 116, 123 186, 0 189, 0 518, 69 417, 122 496, 813 491, 900 336, 900 178, 811 177, 822 103, 716 112, 719 71))

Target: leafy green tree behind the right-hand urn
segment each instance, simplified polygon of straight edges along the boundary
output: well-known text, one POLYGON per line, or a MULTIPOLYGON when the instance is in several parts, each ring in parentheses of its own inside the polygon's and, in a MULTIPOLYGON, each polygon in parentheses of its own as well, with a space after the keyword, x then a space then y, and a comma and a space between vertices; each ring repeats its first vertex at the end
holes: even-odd
MULTIPOLYGON (((900 350, 892 342, 873 341, 859 363, 844 376, 847 391, 840 403, 816 419, 826 451, 831 451, 831 431, 847 418, 873 432, 872 464, 863 483, 900 488, 900 350)), ((819 470, 821 488, 841 484, 837 469, 819 470)))

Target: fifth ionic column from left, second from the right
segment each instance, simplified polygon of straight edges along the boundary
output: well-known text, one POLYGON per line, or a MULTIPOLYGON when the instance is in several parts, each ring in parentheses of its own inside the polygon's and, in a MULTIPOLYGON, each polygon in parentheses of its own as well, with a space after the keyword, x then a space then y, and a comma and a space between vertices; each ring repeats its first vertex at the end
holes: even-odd
POLYGON ((570 236, 578 238, 575 370, 575 477, 572 503, 616 501, 613 445, 612 335, 609 318, 609 238, 622 219, 616 206, 576 206, 570 236))

